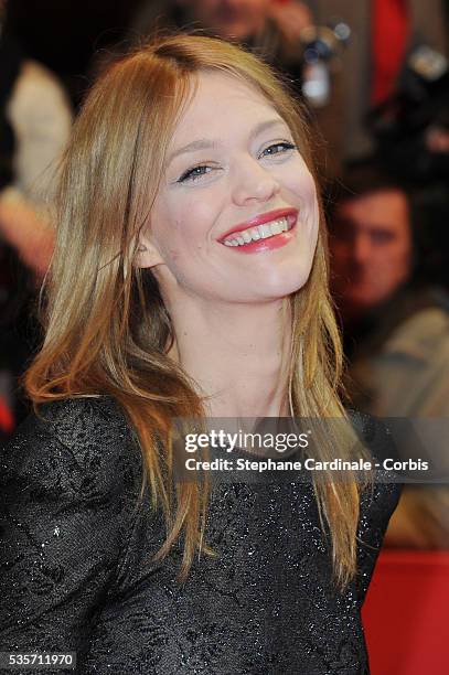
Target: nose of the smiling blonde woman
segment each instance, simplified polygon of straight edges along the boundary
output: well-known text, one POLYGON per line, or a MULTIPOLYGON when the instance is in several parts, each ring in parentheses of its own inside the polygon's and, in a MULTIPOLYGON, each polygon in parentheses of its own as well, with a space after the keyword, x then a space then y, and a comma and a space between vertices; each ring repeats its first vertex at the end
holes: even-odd
POLYGON ((270 171, 253 158, 239 161, 234 172, 233 201, 237 206, 252 202, 268 202, 280 191, 280 184, 270 171))

